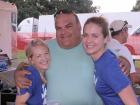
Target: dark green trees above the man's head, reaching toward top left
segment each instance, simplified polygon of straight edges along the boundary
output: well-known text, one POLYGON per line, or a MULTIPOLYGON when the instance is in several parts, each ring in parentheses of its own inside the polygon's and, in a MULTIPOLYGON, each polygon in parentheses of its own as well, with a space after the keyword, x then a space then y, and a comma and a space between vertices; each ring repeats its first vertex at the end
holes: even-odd
POLYGON ((4 0, 15 3, 18 8, 18 23, 28 17, 54 14, 62 8, 71 8, 76 13, 98 12, 92 0, 4 0))

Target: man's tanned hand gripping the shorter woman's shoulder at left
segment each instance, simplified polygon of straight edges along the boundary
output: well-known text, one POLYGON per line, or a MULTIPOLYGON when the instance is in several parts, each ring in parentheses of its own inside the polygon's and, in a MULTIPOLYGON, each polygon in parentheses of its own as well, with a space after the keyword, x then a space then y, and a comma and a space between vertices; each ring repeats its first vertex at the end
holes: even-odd
POLYGON ((31 81, 25 78, 25 75, 30 74, 29 71, 24 70, 27 65, 27 63, 21 62, 14 72, 15 84, 19 88, 28 88, 31 85, 31 81))

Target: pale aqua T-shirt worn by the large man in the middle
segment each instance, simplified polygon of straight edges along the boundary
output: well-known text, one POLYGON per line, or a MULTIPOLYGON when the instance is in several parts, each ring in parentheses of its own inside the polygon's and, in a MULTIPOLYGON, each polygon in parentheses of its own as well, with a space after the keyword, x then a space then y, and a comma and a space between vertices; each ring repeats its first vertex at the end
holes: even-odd
POLYGON ((51 64, 47 71, 49 100, 61 105, 102 105, 95 91, 93 62, 82 44, 60 48, 56 40, 48 43, 51 64))

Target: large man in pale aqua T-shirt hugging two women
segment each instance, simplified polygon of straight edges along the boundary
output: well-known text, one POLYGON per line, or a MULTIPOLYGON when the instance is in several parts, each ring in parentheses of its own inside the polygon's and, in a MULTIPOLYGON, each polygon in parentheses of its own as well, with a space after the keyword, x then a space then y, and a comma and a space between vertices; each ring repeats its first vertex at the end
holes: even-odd
MULTIPOLYGON (((46 72, 48 100, 61 105, 102 105, 93 83, 94 66, 85 53, 81 40, 81 25, 78 16, 71 10, 58 10, 54 15, 56 39, 48 42, 51 53, 50 68, 46 72)), ((120 65, 129 73, 127 60, 120 65)), ((26 70, 15 72, 18 87, 28 87, 26 70)))

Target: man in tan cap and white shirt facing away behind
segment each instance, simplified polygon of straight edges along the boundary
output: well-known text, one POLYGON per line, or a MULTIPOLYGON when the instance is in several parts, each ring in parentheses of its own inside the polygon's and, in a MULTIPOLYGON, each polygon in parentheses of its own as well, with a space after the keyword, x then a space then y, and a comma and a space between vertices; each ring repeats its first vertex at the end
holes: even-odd
POLYGON ((131 80, 134 83, 140 83, 140 76, 136 74, 132 55, 128 50, 128 48, 124 45, 128 39, 128 28, 131 27, 132 26, 129 25, 127 21, 114 20, 109 26, 111 39, 107 43, 107 48, 113 51, 113 53, 115 53, 117 56, 123 56, 129 61, 131 65, 130 68, 131 80))

